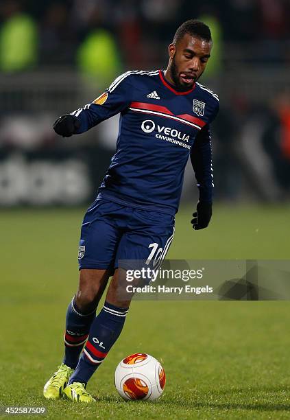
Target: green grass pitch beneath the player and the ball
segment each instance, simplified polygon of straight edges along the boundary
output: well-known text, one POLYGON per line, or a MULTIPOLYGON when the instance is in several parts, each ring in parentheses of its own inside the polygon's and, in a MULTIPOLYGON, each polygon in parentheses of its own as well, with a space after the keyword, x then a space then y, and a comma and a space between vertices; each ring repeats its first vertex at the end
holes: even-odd
MULTIPOLYGON (((173 259, 289 259, 289 207, 216 205, 203 231, 176 218, 173 259)), ((134 301, 121 337, 88 384, 90 406, 47 401, 62 360, 64 315, 77 287, 84 209, 1 211, 0 406, 45 406, 49 419, 287 419, 290 305, 286 301, 134 301), (155 402, 125 402, 114 369, 145 352, 165 367, 155 402)), ((34 416, 36 417, 36 416, 34 416)))

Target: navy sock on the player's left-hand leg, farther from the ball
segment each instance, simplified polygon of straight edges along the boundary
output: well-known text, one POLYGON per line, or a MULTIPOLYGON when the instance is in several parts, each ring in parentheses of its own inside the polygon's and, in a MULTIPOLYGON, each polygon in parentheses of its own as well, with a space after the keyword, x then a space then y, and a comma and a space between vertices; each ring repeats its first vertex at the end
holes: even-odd
POLYGON ((80 353, 84 347, 84 343, 88 338, 90 325, 95 319, 96 310, 90 314, 82 314, 77 305, 75 298, 67 308, 66 330, 64 334, 64 364, 75 369, 80 358, 80 353))

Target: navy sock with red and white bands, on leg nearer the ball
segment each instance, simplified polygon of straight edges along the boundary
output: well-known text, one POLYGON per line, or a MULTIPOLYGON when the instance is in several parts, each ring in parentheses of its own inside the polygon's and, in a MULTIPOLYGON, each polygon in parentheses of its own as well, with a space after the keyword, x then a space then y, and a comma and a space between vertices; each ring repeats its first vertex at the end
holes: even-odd
POLYGON ((123 308, 110 305, 108 302, 104 303, 103 309, 90 327, 88 341, 77 367, 71 375, 69 384, 72 382, 86 384, 88 382, 121 334, 128 310, 128 307, 123 308))

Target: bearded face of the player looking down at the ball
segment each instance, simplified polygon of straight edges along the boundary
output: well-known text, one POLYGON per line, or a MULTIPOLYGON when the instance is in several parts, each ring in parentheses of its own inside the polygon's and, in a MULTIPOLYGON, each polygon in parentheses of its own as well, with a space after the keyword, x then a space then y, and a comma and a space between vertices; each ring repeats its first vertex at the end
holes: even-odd
POLYGON ((173 83, 180 89, 191 89, 193 84, 204 73, 210 57, 213 43, 190 34, 176 44, 169 45, 170 75, 173 83))

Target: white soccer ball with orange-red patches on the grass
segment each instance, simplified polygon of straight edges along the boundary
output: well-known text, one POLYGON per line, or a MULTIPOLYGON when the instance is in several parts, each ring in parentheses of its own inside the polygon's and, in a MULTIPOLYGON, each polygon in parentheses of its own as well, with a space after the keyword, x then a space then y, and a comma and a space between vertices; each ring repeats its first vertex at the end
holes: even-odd
POLYGON ((154 401, 164 390, 165 371, 151 355, 131 354, 118 364, 114 384, 123 399, 154 401))

